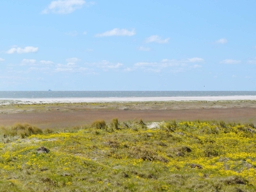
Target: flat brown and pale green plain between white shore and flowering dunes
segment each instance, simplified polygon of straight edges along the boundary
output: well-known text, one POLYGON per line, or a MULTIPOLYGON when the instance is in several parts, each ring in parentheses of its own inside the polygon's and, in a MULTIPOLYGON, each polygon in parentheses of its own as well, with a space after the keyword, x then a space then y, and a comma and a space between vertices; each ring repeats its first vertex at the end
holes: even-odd
POLYGON ((0 125, 32 124, 42 129, 142 118, 163 120, 223 120, 256 124, 256 100, 98 102, 55 104, 8 104, 0 106, 0 125))

